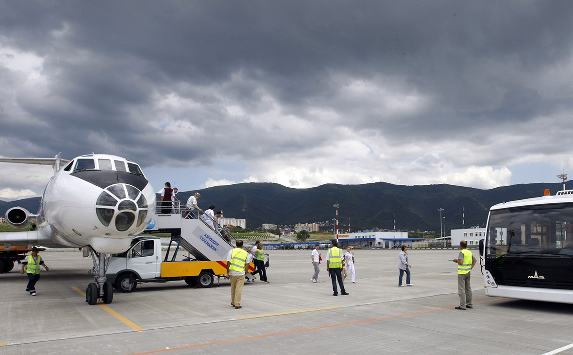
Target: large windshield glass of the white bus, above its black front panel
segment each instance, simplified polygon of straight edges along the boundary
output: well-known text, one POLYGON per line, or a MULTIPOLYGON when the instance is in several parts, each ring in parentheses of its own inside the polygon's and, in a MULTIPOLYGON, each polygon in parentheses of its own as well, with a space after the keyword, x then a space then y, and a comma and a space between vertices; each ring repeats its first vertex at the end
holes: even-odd
POLYGON ((492 210, 486 253, 573 255, 573 203, 492 210))

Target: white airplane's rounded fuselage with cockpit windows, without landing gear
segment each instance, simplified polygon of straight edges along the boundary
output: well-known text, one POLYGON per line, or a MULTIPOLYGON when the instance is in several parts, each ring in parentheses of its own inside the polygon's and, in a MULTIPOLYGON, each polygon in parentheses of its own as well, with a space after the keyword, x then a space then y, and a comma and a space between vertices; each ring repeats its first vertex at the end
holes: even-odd
MULTIPOLYGON (((89 154, 72 159, 53 175, 36 215, 36 238, 32 232, 19 237, 46 247, 91 245, 99 253, 121 253, 154 215, 155 192, 136 163, 89 154)), ((17 233, 26 234, 10 234, 17 233)), ((5 241, 17 244, 10 239, 5 241)))

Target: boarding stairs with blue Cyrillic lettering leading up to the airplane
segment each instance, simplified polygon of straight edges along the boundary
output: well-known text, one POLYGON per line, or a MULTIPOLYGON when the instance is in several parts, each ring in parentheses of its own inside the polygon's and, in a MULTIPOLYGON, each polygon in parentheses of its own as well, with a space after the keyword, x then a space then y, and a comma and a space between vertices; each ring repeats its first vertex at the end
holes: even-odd
POLYGON ((217 225, 211 217, 198 210, 190 210, 179 201, 173 202, 173 208, 165 212, 165 206, 158 202, 155 225, 148 227, 145 233, 170 233, 172 243, 185 248, 195 260, 226 260, 227 253, 235 248, 236 239, 225 229, 214 231, 206 219, 217 225))

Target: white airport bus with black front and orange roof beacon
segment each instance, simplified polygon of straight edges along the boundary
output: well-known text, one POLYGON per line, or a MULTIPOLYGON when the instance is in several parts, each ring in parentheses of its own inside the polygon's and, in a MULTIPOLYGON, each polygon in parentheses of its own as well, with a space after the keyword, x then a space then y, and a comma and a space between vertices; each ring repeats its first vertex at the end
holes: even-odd
POLYGON ((573 303, 573 190, 494 205, 486 228, 486 295, 573 303))

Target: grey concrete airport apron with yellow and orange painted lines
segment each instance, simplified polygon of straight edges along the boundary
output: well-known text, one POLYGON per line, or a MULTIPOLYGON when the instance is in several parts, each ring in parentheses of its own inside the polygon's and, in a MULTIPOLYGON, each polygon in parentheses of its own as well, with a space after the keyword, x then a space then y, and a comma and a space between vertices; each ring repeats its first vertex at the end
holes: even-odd
POLYGON ((238 310, 225 279, 140 284, 89 306, 91 259, 41 252, 36 297, 19 266, 0 275, 0 354, 573 354, 573 305, 486 297, 478 263, 474 309, 455 310, 458 251, 408 252, 414 286, 398 287, 399 251, 356 249, 356 283, 333 297, 325 261, 311 281, 310 250, 269 251, 270 283, 245 283, 238 310))

